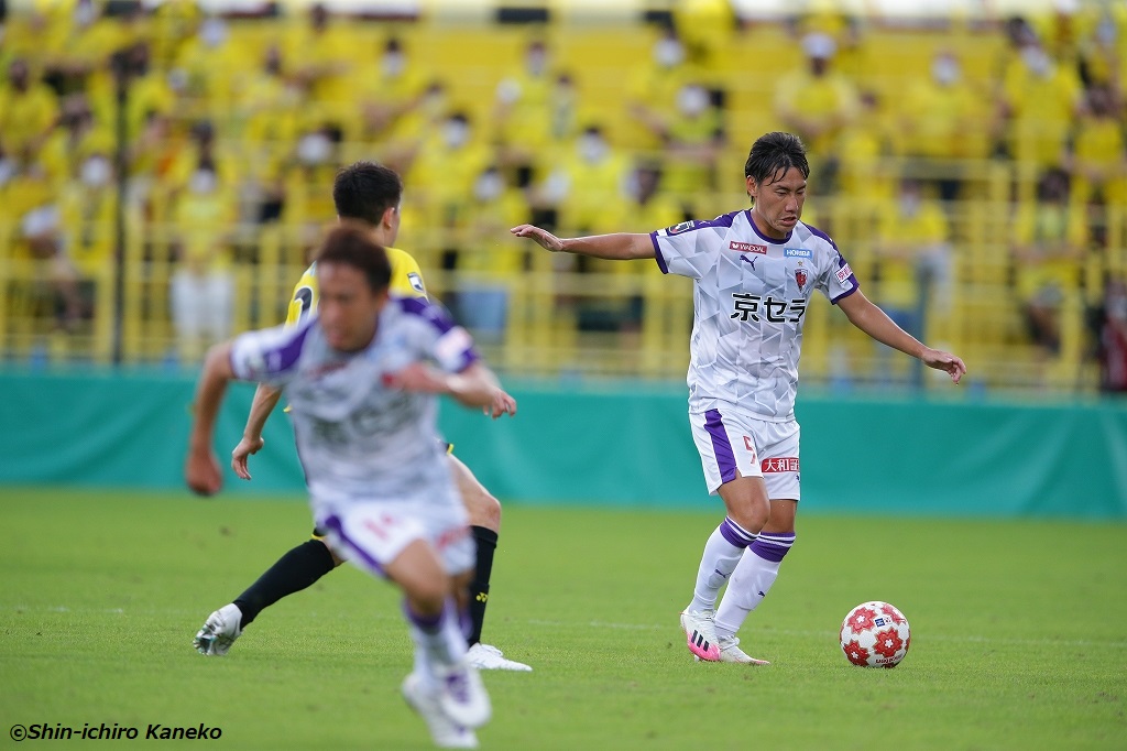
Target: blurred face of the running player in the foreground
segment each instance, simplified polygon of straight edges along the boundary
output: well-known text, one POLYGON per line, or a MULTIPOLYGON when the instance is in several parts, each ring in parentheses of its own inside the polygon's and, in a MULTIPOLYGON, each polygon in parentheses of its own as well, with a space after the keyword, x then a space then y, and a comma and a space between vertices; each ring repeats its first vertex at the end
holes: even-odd
POLYGON ((364 272, 347 264, 318 264, 321 300, 318 316, 329 346, 357 352, 371 344, 388 290, 373 292, 364 272))

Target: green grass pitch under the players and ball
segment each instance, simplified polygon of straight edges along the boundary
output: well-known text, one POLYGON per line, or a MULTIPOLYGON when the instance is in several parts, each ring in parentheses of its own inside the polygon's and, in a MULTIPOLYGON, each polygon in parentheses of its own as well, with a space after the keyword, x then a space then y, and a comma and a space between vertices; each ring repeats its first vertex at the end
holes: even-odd
MULTIPOLYGON (((486 640, 535 670, 486 674, 482 748, 1127 748, 1127 525, 800 518, 740 634, 774 664, 749 669, 693 663, 677 627, 718 518, 509 504, 486 640), (896 670, 837 646, 872 599, 912 624, 896 670)), ((304 538, 300 498, 5 488, 0 522, 8 746, 17 723, 203 723, 227 749, 429 746, 399 697, 398 598, 357 571, 265 611, 227 657, 193 651, 207 613, 304 538)))

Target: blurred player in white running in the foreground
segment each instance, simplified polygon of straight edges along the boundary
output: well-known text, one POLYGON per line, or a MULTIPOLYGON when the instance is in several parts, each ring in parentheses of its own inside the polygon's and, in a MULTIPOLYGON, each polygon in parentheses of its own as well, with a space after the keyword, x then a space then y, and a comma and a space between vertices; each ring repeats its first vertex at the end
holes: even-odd
POLYGON ((389 294, 391 265, 371 231, 334 229, 318 256, 320 308, 295 327, 212 348, 196 389, 188 486, 219 491, 212 449, 227 383, 281 387, 291 408, 314 523, 332 551, 403 592, 416 644, 407 701, 438 745, 474 748, 489 697, 467 660, 460 619, 474 546, 437 441, 437 394, 491 415, 516 403, 440 307, 389 294))

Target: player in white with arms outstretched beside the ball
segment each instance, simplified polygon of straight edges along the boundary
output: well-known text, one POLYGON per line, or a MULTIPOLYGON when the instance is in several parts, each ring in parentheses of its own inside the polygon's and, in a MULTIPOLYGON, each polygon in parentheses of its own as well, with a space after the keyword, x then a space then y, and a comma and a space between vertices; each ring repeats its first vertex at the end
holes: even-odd
POLYGON ((727 516, 704 545, 681 627, 689 651, 709 662, 765 664, 739 648, 736 631, 771 590, 795 542, 795 394, 814 290, 878 342, 946 371, 956 383, 966 373, 959 357, 921 344, 870 302, 834 241, 802 223, 809 174, 798 136, 767 133, 744 165, 751 209, 649 235, 560 239, 530 224, 512 230, 557 253, 655 258, 664 273, 694 280, 689 421, 709 493, 720 495, 727 516))

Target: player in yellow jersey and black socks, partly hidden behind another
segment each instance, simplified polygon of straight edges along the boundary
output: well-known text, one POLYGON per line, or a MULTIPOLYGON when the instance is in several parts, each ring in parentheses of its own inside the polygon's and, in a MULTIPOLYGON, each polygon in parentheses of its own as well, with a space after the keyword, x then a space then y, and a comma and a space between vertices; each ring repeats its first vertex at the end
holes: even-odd
MULTIPOLYGON (((398 295, 426 297, 423 273, 410 254, 393 248, 399 235, 399 204, 402 182, 393 170, 370 161, 358 161, 343 168, 332 184, 332 201, 340 219, 361 221, 371 228, 373 239, 387 249, 391 262, 391 291, 398 295)), ((314 263, 294 288, 286 324, 293 326, 304 316, 317 310, 318 284, 314 263)), ((261 431, 266 418, 277 405, 281 391, 259 386, 247 417, 242 440, 231 452, 231 466, 242 479, 250 479, 247 459, 263 448, 261 431)), ((477 542, 477 560, 470 582, 470 612, 472 624, 467 635, 469 660, 480 670, 530 671, 532 668, 506 659, 500 650, 481 643, 481 626, 489 601, 489 578, 494 551, 500 529, 500 503, 473 476, 473 472, 447 454, 447 461, 462 502, 470 516, 470 530, 477 542)), ((267 608, 282 598, 299 592, 340 565, 321 540, 319 530, 313 539, 291 549, 270 566, 254 584, 231 603, 207 617, 196 634, 196 650, 206 655, 223 655, 231 648, 243 629, 267 608)))

